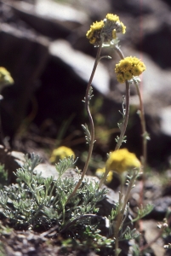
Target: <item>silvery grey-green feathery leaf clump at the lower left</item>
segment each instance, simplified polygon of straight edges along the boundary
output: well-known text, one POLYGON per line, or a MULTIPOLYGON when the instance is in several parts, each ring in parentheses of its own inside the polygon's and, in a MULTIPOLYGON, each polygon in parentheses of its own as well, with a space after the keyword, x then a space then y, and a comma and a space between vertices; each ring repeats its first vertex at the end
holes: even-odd
POLYGON ((86 214, 98 212, 96 204, 105 198, 106 190, 98 189, 98 183, 83 180, 77 194, 67 202, 77 180, 62 175, 74 165, 73 157, 60 160, 56 165, 57 180, 37 174, 35 168, 39 163, 35 154, 31 154, 31 159, 26 155, 24 165, 16 171, 16 183, 0 190, 1 214, 16 229, 47 230, 57 225, 58 232, 72 229, 78 234, 76 226, 88 224, 86 214))

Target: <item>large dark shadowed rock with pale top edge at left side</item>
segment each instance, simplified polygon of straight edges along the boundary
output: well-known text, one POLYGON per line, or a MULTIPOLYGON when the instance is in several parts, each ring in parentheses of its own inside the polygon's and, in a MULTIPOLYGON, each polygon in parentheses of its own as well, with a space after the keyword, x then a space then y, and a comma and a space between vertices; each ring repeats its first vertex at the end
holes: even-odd
POLYGON ((37 79, 43 72, 48 58, 48 40, 26 28, 21 30, 4 22, 0 26, 0 40, 1 66, 6 67, 14 79, 14 85, 3 90, 1 102, 3 131, 12 138, 26 115, 37 79))

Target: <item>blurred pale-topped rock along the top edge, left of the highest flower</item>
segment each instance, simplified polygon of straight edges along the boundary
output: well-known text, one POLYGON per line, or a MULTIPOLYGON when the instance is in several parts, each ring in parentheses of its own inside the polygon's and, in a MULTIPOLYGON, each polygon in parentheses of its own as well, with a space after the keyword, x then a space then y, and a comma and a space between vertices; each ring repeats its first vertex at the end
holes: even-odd
POLYGON ((21 20, 48 38, 66 37, 88 21, 82 10, 52 0, 37 0, 35 4, 16 2, 12 7, 21 20))

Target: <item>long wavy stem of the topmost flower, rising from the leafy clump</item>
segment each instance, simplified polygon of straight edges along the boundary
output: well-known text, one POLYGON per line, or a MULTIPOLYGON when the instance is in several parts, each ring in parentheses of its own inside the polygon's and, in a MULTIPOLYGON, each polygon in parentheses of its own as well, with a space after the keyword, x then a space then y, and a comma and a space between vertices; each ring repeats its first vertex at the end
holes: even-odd
POLYGON ((93 78, 94 78, 94 73, 95 73, 96 68, 98 66, 98 63, 100 61, 100 53, 101 53, 102 44, 103 44, 103 39, 101 39, 100 46, 99 46, 98 51, 97 51, 97 55, 96 55, 95 62, 94 62, 94 68, 92 70, 90 79, 88 81, 88 86, 87 86, 86 95, 85 95, 85 108, 86 108, 86 111, 88 113, 88 119, 89 119, 89 123, 90 123, 90 134, 91 134, 91 141, 89 143, 89 149, 88 149, 88 158, 85 162, 85 166, 83 168, 82 176, 80 177, 75 189, 73 189, 73 191, 71 192, 71 195, 69 195, 67 202, 71 199, 72 196, 74 196, 76 194, 77 189, 79 189, 79 187, 80 187, 80 185, 83 181, 83 177, 85 176, 85 174, 88 170, 89 160, 91 158, 92 151, 93 151, 93 148, 94 148, 94 120, 93 120, 92 115, 91 115, 90 110, 89 110, 89 100, 90 99, 89 99, 88 95, 89 95, 90 86, 91 86, 93 78))

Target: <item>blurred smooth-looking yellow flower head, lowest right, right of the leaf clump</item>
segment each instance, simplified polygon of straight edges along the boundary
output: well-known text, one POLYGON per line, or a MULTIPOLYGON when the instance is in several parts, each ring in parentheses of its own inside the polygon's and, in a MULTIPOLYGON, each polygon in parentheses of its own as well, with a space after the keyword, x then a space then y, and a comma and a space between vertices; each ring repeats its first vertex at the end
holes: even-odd
POLYGON ((107 170, 121 174, 134 167, 140 168, 140 160, 127 148, 123 148, 111 152, 105 166, 107 170))

